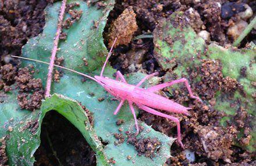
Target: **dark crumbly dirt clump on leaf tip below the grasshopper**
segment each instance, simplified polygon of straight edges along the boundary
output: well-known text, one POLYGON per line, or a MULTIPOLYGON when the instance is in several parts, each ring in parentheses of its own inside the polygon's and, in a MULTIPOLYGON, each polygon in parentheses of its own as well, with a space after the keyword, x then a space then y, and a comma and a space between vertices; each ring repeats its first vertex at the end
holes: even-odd
POLYGON ((161 147, 161 142, 158 138, 136 138, 134 134, 128 134, 127 144, 134 145, 138 152, 138 156, 153 158, 155 153, 161 147))

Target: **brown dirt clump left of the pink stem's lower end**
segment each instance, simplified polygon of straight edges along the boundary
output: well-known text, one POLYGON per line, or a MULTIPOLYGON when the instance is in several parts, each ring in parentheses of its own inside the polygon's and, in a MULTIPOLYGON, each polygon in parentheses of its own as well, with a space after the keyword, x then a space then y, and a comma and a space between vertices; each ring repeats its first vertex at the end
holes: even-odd
POLYGON ((29 68, 20 68, 15 77, 19 94, 17 100, 22 109, 35 110, 40 108, 44 99, 41 79, 33 79, 29 68))

